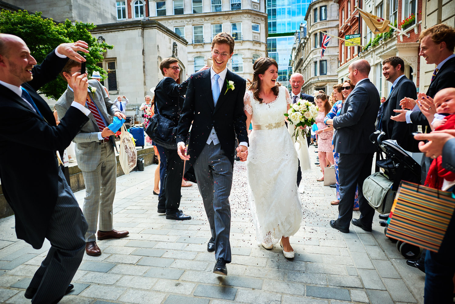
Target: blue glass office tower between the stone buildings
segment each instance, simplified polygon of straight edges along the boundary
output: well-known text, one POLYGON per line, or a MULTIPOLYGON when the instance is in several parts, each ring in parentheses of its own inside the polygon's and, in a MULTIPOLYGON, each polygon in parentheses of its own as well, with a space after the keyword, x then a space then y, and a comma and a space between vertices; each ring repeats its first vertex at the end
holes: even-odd
POLYGON ((278 62, 278 81, 289 88, 289 65, 294 44, 294 33, 305 23, 305 14, 311 0, 267 0, 268 57, 278 62))

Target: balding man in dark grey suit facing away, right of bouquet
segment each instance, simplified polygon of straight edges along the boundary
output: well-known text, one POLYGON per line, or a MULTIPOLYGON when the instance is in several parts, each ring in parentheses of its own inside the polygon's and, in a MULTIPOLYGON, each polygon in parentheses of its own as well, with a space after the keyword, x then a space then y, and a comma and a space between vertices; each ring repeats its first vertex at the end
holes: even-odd
POLYGON ((371 174, 376 151, 369 136, 375 131, 374 123, 380 99, 378 90, 368 79, 368 61, 359 59, 349 65, 348 71, 355 88, 344 102, 340 115, 327 120, 327 124, 333 124, 336 130, 334 146, 335 152, 339 153, 339 215, 336 221, 330 221, 330 226, 344 233, 349 233, 357 186, 360 218, 353 219, 352 223, 365 231, 371 231, 374 209, 365 199, 362 187, 364 180, 371 174))

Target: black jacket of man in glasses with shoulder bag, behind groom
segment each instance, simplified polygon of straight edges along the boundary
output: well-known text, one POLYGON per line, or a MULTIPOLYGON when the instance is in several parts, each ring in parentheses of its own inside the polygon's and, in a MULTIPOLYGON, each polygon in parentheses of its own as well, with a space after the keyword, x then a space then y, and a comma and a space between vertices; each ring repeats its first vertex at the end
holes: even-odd
POLYGON ((177 126, 187 93, 188 79, 178 84, 171 77, 164 77, 155 88, 155 106, 160 115, 171 119, 177 126))

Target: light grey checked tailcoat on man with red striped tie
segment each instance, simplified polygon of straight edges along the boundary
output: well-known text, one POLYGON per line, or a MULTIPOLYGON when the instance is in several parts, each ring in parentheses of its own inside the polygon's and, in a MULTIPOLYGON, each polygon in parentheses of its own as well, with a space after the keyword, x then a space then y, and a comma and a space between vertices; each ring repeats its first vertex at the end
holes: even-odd
MULTIPOLYGON (((91 100, 96 104, 98 109, 106 120, 106 127, 111 124, 112 116, 120 110, 109 99, 101 83, 95 79, 88 81, 89 86, 96 88, 95 93, 89 92, 91 100)), ((67 88, 65 93, 58 99, 56 109, 58 117, 63 117, 66 111, 71 108, 71 102, 74 100, 74 93, 67 88)), ((88 106, 85 106, 88 109, 88 106)), ((74 137, 76 143, 76 159, 79 169, 90 172, 96 169, 101 159, 100 140, 98 139, 98 124, 92 113, 89 114, 89 121, 82 127, 81 131, 74 137)), ((110 138, 111 144, 114 144, 113 136, 110 138)))

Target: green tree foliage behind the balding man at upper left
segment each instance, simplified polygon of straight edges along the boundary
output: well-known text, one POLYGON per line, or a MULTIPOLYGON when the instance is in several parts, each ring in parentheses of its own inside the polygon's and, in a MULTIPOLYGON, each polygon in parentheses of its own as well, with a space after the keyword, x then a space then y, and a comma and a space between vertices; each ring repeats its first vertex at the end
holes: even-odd
MULTIPOLYGON (((87 57, 86 67, 89 75, 93 71, 98 71, 105 78, 106 71, 96 66, 96 63, 102 61, 103 52, 106 49, 112 49, 114 46, 104 41, 98 43, 96 38, 90 34, 90 30, 94 28, 93 23, 76 21, 73 25, 68 19, 64 23, 56 23, 52 19, 43 19, 41 12, 29 14, 25 10, 0 11, 0 33, 22 38, 30 48, 31 55, 35 57, 36 62, 42 62, 46 55, 61 43, 82 40, 86 41, 89 46, 90 53, 84 53, 87 57)), ((61 77, 57 77, 56 80, 42 87, 40 93, 57 100, 65 90, 66 82, 61 77)))

